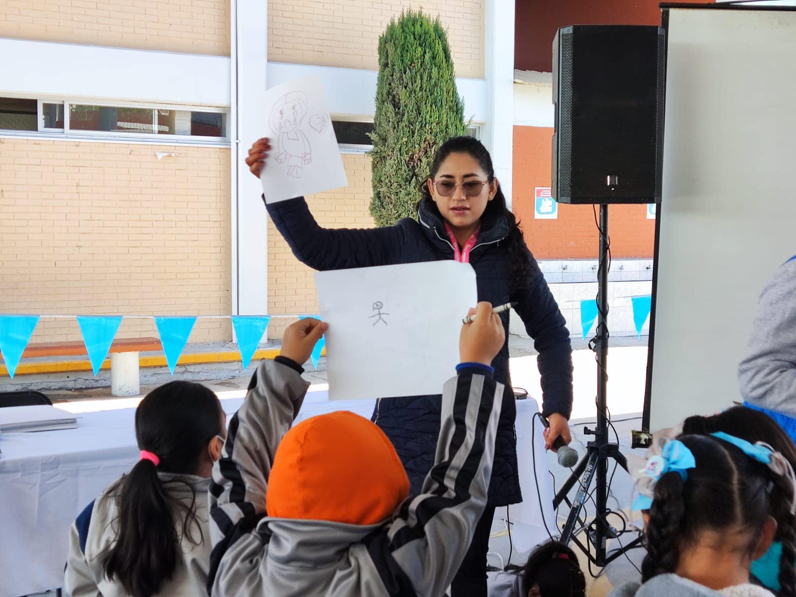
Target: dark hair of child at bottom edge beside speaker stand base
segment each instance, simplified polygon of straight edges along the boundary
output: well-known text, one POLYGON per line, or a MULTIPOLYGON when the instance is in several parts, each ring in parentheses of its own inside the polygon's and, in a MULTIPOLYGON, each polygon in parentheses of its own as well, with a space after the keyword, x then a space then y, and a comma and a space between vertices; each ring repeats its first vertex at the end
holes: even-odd
POLYGON ((575 552, 558 541, 548 541, 534 549, 521 576, 524 590, 539 587, 541 597, 586 595, 586 577, 575 552))

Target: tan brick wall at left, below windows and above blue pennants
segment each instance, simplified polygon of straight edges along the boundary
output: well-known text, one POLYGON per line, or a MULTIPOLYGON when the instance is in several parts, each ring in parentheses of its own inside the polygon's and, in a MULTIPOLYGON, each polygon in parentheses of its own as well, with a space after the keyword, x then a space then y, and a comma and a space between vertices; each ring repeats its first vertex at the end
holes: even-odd
MULTIPOLYGON (((0 139, 0 313, 230 314, 229 169, 218 147, 0 139)), ((32 341, 80 338, 57 319, 32 341)), ((207 319, 189 341, 231 338, 207 319)))

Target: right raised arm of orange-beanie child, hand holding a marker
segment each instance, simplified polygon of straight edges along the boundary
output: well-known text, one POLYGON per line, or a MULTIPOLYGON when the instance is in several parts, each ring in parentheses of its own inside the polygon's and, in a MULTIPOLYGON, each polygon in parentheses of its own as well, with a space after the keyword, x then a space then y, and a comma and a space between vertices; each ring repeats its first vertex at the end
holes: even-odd
POLYGON ((390 595, 443 595, 470 547, 486 506, 503 384, 490 362, 505 332, 488 302, 462 328, 462 364, 443 389, 435 464, 423 493, 404 501, 387 533, 369 540, 369 555, 390 595))

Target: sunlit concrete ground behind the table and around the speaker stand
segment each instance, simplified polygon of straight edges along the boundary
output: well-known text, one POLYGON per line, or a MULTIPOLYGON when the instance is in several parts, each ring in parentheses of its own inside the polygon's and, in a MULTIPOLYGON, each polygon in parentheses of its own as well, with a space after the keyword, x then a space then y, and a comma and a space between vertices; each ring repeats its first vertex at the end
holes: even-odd
MULTIPOLYGON (((585 452, 586 443, 589 439, 583 435, 583 427, 593 427, 595 422, 595 392, 597 387, 597 365, 594 353, 587 349, 586 342, 573 341, 573 364, 574 364, 574 388, 575 400, 572 410, 570 427, 572 429, 572 447, 575 447, 580 455, 585 452)), ((643 451, 631 450, 630 431, 641 428, 641 412, 643 408, 644 388, 646 383, 646 337, 645 338, 611 338, 611 349, 608 354, 608 408, 611 418, 615 422, 615 429, 618 435, 619 445, 622 453, 627 455, 635 453, 642 456, 643 451)), ((533 341, 512 336, 510 339, 511 353, 511 375, 515 387, 528 390, 531 396, 540 398, 541 391, 539 386, 539 374, 536 366, 536 352, 533 349, 533 341)), ((210 365, 195 365, 185 367, 175 372, 175 377, 179 379, 201 380, 213 391, 224 397, 243 396, 248 386, 248 381, 255 369, 256 364, 244 372, 240 370, 240 364, 224 364, 219 367, 210 365), (221 379, 213 378, 220 377, 221 379)), ((326 385, 326 359, 322 358, 318 369, 306 364, 304 374, 310 383, 318 389, 325 389, 326 385)), ((86 410, 98 410, 106 408, 131 408, 138 404, 141 397, 159 384, 171 379, 166 370, 163 372, 150 372, 143 378, 144 384, 141 388, 141 396, 132 398, 112 398, 110 388, 80 388, 80 389, 53 389, 53 381, 49 381, 50 388, 45 393, 51 397, 53 402, 68 400, 80 401, 80 407, 86 410)), ((41 380, 48 383, 48 380, 41 380)), ((63 383, 63 380, 61 380, 63 383)), ((72 404, 72 407, 76 406, 72 404)), ((613 434, 612 434, 613 439, 613 434)), ((555 486, 563 483, 570 470, 559 466, 556 456, 548 453, 548 466, 555 479, 555 486)), ((613 470, 613 466, 609 470, 613 470)), ((624 518, 629 518, 630 497, 632 494, 633 483, 630 475, 621 468, 616 470, 611 483, 611 490, 608 504, 611 509, 622 511, 624 518)), ((576 493, 577 486, 570 492, 571 497, 576 493)), ((505 509, 503 509, 505 513, 505 509)), ((558 513, 559 528, 564 524, 568 509, 560 508, 558 513)), ((594 516, 594 505, 587 503, 587 517, 594 516)), ((611 515, 611 524, 616 529, 630 529, 634 525, 640 526, 640 521, 623 520, 619 515, 611 515)), ((552 529, 551 529, 552 530, 552 529)), ((583 537, 583 533, 581 536, 583 537)), ((626 533, 619 540, 609 540, 607 548, 618 546, 632 540, 635 537, 632 533, 626 533)), ((505 533, 505 523, 501 517, 501 511, 496 514, 493 525, 493 537, 490 540, 490 564, 499 567, 501 562, 508 564, 509 553, 512 564, 524 564, 528 553, 517 552, 509 542, 509 537, 505 533)), ((597 578, 594 579, 589 573, 586 565, 586 558, 583 557, 582 565, 589 580, 588 592, 591 597, 600 597, 607 594, 611 586, 622 583, 626 580, 638 579, 640 576, 635 567, 641 565, 643 549, 634 549, 628 556, 619 557, 601 573, 595 567, 591 567, 597 578)))

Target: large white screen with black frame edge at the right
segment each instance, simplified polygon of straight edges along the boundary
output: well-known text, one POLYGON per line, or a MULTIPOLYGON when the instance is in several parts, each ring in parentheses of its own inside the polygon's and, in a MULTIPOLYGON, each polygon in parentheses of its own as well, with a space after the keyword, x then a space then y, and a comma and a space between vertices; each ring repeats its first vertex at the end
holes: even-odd
POLYGON ((760 291, 796 253, 796 12, 670 9, 650 430, 740 400, 760 291))

